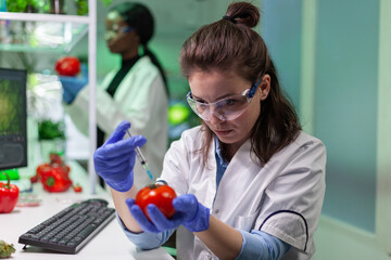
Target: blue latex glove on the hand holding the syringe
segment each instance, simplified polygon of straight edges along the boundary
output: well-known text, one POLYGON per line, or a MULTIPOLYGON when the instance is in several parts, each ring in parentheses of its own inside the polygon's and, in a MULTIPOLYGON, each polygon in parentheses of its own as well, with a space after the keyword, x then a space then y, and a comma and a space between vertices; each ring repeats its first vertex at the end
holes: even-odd
POLYGON ((108 141, 93 153, 96 172, 105 183, 118 192, 127 192, 134 184, 135 148, 146 144, 147 139, 135 135, 124 139, 130 122, 122 121, 108 141))

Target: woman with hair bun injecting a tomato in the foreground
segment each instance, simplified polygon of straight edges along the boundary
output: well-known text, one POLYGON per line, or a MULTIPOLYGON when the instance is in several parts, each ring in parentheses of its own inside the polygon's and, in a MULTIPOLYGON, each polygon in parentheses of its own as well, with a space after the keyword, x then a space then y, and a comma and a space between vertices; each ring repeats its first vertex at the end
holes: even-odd
POLYGON ((313 259, 325 195, 326 148, 301 130, 275 66, 252 28, 258 10, 235 2, 186 40, 180 66, 188 103, 202 126, 173 142, 159 181, 177 193, 167 219, 135 205, 135 147, 122 122, 94 153, 112 190, 118 222, 143 249, 177 231, 178 259, 313 259), (131 158, 131 159, 130 159, 131 158))

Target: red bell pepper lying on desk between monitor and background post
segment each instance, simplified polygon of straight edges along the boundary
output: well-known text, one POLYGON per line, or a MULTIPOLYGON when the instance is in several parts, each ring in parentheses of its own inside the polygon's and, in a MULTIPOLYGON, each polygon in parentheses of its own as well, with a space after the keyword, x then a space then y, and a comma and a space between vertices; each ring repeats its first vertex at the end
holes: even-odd
POLYGON ((61 165, 52 165, 41 171, 41 182, 48 192, 65 192, 72 186, 66 168, 61 165))

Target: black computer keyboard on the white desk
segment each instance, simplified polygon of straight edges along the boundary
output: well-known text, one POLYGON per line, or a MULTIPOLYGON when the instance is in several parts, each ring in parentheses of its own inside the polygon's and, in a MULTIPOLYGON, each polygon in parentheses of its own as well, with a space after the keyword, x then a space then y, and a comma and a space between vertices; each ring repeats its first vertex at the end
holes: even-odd
POLYGON ((18 243, 76 253, 115 216, 103 199, 73 204, 21 235, 18 243))

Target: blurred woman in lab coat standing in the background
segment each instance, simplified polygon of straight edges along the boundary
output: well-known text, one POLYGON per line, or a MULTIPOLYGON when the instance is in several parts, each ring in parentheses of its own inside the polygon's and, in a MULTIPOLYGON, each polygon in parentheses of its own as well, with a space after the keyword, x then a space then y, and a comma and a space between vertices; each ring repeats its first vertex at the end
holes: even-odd
MULTIPOLYGON (((148 49, 153 30, 152 14, 143 4, 124 2, 109 10, 105 40, 110 51, 122 56, 122 63, 97 88, 97 146, 103 144, 105 133, 113 132, 121 121, 130 121, 131 133, 148 139, 142 152, 156 178, 167 148, 168 92, 163 69, 148 49)), ((75 126, 88 133, 88 88, 72 77, 60 80, 66 112, 75 126)), ((142 172, 135 180, 137 184, 146 185, 150 181, 140 165, 135 171, 142 172)))

